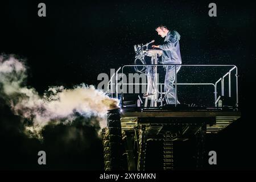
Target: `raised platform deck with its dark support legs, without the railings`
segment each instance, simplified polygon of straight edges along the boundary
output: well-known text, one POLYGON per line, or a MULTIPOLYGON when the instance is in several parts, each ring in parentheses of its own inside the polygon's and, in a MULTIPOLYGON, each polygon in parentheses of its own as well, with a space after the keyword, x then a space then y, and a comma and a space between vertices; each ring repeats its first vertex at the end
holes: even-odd
POLYGON ((196 167, 201 168, 205 136, 219 133, 240 117, 240 111, 231 107, 123 107, 110 110, 108 127, 102 130, 105 170, 144 171, 146 151, 150 149, 147 143, 159 143, 163 169, 174 169, 175 140, 195 143, 196 150, 191 152, 195 152, 196 167))

